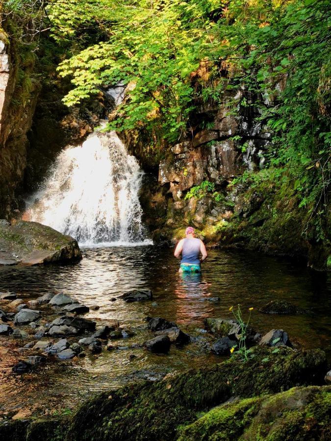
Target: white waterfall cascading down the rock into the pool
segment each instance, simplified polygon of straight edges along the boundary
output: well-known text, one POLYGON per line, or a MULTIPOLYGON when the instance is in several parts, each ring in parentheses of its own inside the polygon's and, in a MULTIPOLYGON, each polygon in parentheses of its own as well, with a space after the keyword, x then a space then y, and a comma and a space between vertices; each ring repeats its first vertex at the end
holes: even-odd
POLYGON ((57 157, 25 218, 77 239, 80 245, 138 245, 144 240, 138 192, 142 172, 116 132, 95 132, 57 157))

